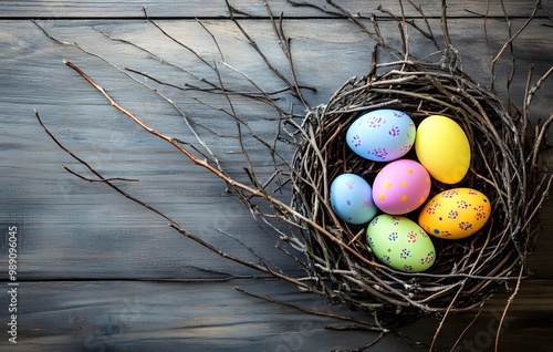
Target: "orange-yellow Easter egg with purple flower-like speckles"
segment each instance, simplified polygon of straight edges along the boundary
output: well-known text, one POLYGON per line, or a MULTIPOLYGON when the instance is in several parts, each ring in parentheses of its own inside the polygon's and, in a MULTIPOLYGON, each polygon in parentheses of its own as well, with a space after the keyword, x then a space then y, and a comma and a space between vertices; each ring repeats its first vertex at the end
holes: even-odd
POLYGON ((481 229, 490 213, 490 200, 482 193, 453 188, 432 197, 420 209, 418 224, 432 236, 459 239, 481 229))

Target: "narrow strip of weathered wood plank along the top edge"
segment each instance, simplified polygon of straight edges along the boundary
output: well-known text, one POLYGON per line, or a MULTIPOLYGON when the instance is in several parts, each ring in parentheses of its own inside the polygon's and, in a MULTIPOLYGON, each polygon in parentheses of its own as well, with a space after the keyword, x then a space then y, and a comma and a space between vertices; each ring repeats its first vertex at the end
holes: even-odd
MULTIPOLYGON (((333 17, 337 11, 323 0, 294 1, 295 3, 310 3, 320 8, 326 9, 328 12, 322 12, 309 6, 292 6, 286 0, 270 0, 268 1, 272 12, 279 15, 283 12, 289 18, 307 18, 307 17, 333 17)), ((415 1, 420 6, 425 13, 429 17, 439 17, 441 4, 439 1, 419 0, 415 1)), ((231 6, 240 12, 248 13, 254 17, 265 17, 267 9, 263 1, 257 0, 232 0, 231 6)), ((401 8, 399 1, 336 1, 343 9, 351 13, 359 13, 369 15, 371 13, 382 13, 377 9, 382 4, 384 9, 390 10, 399 15, 401 8)), ((532 13, 535 1, 533 0, 494 0, 482 2, 479 0, 467 1, 450 1, 448 3, 448 15, 450 17, 480 17, 488 14, 490 17, 503 17, 504 11, 501 4, 504 4, 504 11, 511 17, 528 17, 532 13)), ((542 4, 550 12, 552 3, 550 0, 542 1, 542 4)), ((143 8, 146 8, 149 15, 156 18, 217 18, 227 17, 229 14, 223 1, 74 1, 74 0, 58 0, 58 1, 2 1, 0 4, 0 18, 139 18, 143 17, 143 8)), ((419 17, 407 1, 404 1, 404 12, 409 17, 419 17)), ((543 11, 538 13, 545 17, 543 11)), ((385 15, 385 14, 383 14, 385 15)))

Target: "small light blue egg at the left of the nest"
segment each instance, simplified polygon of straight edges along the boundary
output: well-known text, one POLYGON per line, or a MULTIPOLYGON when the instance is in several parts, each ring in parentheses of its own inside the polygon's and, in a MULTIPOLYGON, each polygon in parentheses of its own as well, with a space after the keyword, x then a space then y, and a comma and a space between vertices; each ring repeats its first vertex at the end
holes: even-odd
POLYGON ((371 221, 378 209, 368 183, 354 174, 342 174, 331 184, 331 207, 342 220, 361 225, 371 221))

